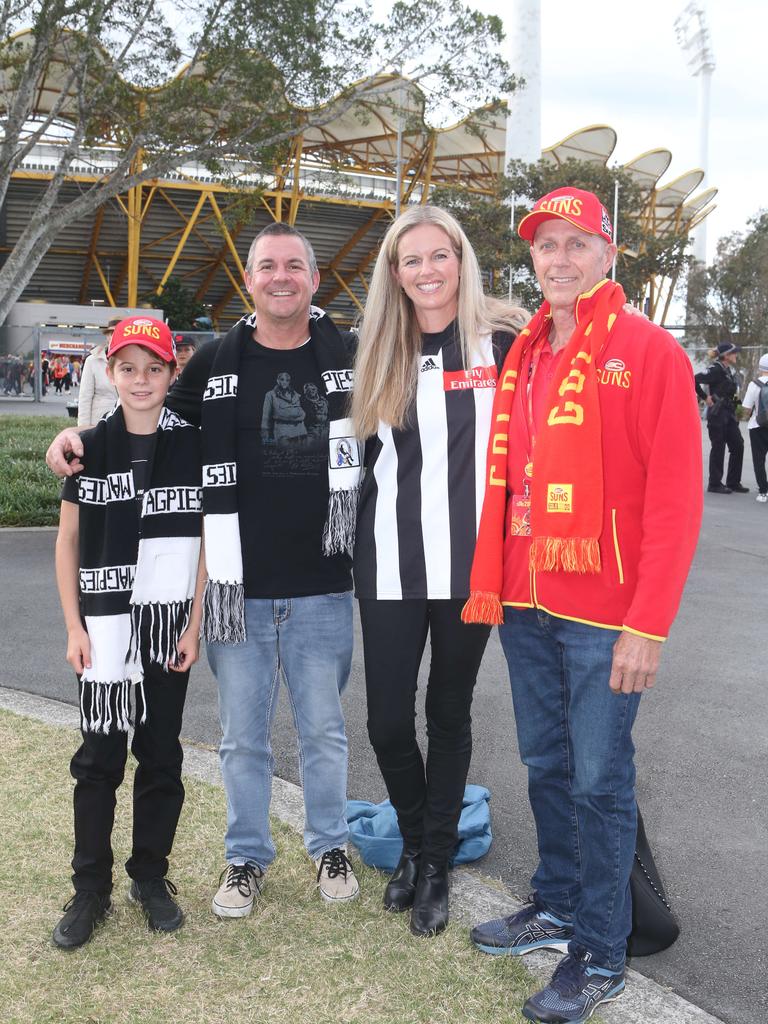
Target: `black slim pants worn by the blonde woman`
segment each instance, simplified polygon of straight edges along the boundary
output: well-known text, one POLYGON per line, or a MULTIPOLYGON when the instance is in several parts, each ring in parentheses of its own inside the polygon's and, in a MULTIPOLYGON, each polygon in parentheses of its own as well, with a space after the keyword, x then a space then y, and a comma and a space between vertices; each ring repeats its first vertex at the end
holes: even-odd
POLYGON ((461 622, 464 600, 361 600, 368 734, 408 846, 446 863, 458 841, 472 757, 472 692, 489 627, 461 622), (426 767, 416 738, 416 689, 424 646, 426 767))

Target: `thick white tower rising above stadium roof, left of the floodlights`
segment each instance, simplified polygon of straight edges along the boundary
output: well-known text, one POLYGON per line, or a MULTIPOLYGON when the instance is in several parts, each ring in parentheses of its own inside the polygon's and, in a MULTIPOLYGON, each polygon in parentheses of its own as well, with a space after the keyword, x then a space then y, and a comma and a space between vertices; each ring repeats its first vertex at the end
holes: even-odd
POLYGON ((542 5, 541 0, 513 0, 505 18, 509 62, 525 85, 507 97, 506 171, 510 160, 535 164, 542 158, 542 5))

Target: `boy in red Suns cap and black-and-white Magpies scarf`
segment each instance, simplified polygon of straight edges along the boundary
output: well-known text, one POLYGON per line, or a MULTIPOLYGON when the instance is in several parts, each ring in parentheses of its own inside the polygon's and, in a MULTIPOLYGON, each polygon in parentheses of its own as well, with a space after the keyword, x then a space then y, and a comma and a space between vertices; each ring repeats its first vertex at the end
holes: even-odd
POLYGON ((111 910, 110 839, 131 689, 138 766, 129 897, 156 931, 174 931, 184 920, 165 876, 184 799, 178 737, 205 584, 199 433, 163 408, 176 372, 165 324, 121 321, 106 354, 120 401, 82 435, 85 468, 65 481, 56 541, 83 735, 70 766, 75 895, 53 931, 61 949, 87 942, 111 910))

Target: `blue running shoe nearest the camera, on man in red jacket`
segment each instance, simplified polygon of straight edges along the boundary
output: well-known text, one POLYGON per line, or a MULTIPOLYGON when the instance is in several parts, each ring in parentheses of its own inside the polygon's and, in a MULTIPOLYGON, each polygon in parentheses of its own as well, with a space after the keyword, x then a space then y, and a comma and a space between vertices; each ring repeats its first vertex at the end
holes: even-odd
POLYGON ((591 954, 577 947, 555 968, 552 981, 531 995, 523 1017, 540 1024, 584 1024, 602 1002, 624 992, 624 971, 590 966, 591 954))

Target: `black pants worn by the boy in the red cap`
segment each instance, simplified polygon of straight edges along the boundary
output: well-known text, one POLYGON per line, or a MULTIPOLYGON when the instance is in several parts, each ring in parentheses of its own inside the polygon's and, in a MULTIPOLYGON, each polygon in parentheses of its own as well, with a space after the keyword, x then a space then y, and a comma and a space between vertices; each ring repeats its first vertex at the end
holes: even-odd
MULTIPOLYGON (((138 762, 133 781, 133 842, 125 868, 132 879, 164 878, 173 846, 184 786, 181 782, 181 716, 189 673, 144 667, 146 722, 138 687, 131 751, 138 762)), ((80 684, 82 686, 82 683, 80 684)), ((84 732, 70 771, 75 778, 76 891, 112 892, 112 828, 117 790, 128 758, 128 734, 84 732)))

